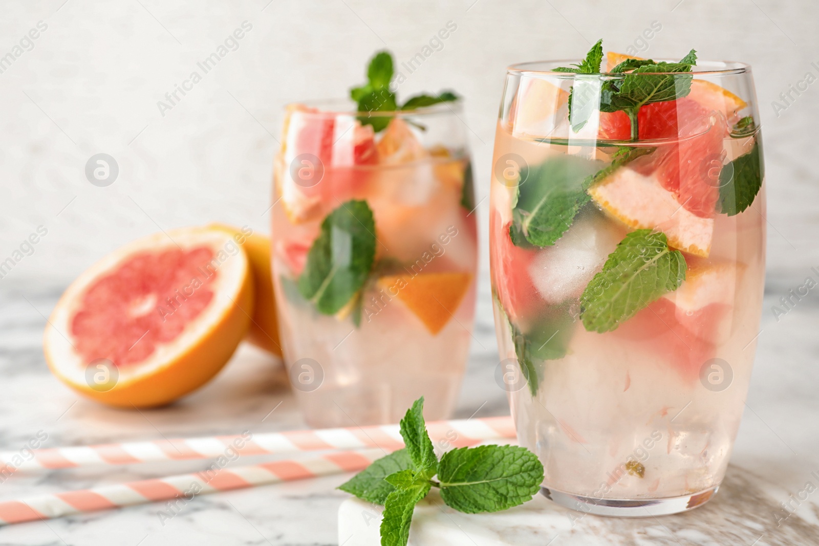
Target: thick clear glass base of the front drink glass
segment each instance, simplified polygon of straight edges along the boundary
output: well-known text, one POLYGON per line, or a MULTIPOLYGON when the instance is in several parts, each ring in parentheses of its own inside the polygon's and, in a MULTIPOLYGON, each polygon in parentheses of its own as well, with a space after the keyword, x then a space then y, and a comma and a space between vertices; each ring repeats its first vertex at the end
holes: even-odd
POLYGON ((665 499, 597 499, 541 487, 541 494, 559 505, 595 516, 651 517, 687 512, 707 503, 719 485, 695 494, 665 499))

